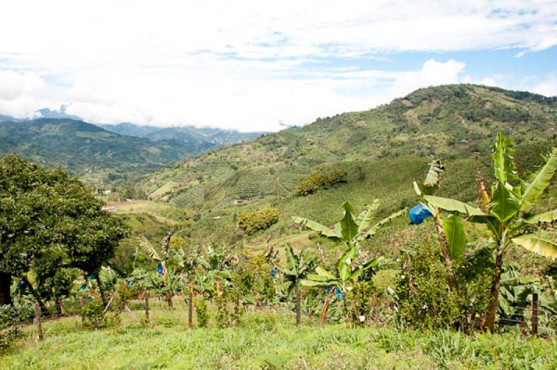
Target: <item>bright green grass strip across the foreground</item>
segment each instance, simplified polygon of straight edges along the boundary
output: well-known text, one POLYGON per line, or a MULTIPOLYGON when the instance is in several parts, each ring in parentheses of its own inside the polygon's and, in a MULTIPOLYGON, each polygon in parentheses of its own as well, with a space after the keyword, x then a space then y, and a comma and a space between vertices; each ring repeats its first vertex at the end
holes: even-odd
MULTIPOLYGON (((123 314, 118 330, 82 328, 78 317, 44 324, 36 341, 31 325, 2 369, 555 369, 555 340, 397 328, 347 328, 290 312, 249 312, 239 328, 187 329, 185 303, 168 312, 152 303, 151 322, 123 314)), ((143 317, 139 305, 134 311, 143 317)))

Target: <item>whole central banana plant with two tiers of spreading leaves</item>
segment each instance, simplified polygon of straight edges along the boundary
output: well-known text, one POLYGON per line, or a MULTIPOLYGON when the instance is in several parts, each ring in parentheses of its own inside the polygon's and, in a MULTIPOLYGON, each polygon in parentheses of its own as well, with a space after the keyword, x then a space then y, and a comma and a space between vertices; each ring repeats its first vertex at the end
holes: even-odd
MULTIPOLYGON (((377 268, 382 259, 372 259, 363 264, 357 264, 355 259, 358 255, 358 247, 361 241, 370 238, 370 236, 375 235, 379 228, 386 223, 390 223, 394 218, 401 216, 406 213, 406 209, 402 209, 391 216, 382 218, 381 220, 375 222, 375 212, 379 208, 379 200, 374 200, 372 204, 368 204, 366 208, 359 214, 356 218, 354 216, 354 208, 349 202, 343 203, 344 216, 343 219, 338 221, 334 225, 334 229, 331 230, 329 227, 317 223, 313 220, 308 220, 308 218, 292 217, 292 221, 301 225, 302 227, 308 227, 311 230, 319 232, 320 234, 327 236, 335 241, 340 241, 347 246, 344 254, 336 264, 336 272, 330 273, 322 267, 317 267, 315 275, 308 275, 306 280, 302 280, 301 283, 308 287, 325 286, 334 287, 338 289, 341 293, 346 293, 352 290, 353 284, 357 281, 359 276, 366 270, 370 268, 377 268)), ((324 321, 327 315, 327 307, 329 306, 329 299, 331 298, 332 291, 329 293, 327 300, 323 306, 323 311, 321 314, 321 319, 324 321)))

